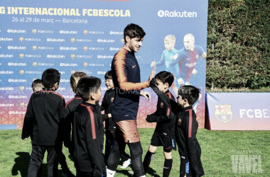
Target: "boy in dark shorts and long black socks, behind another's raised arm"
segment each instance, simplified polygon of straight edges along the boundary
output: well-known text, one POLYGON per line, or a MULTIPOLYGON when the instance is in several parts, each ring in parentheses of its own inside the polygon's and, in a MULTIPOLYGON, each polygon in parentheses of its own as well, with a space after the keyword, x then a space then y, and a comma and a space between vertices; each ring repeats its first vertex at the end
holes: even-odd
MULTIPOLYGON (((156 74, 156 86, 160 91, 166 94, 168 98, 175 98, 169 91, 171 84, 173 84, 173 74, 170 72, 160 72, 156 74)), ((151 144, 148 148, 148 152, 144 157, 144 171, 147 172, 148 166, 153 160, 153 156, 156 153, 158 146, 163 146, 164 152, 164 167, 163 176, 169 176, 171 172, 171 167, 173 165, 173 158, 171 156, 171 150, 176 150, 175 147, 175 114, 171 112, 171 109, 164 105, 161 98, 158 98, 158 103, 156 105, 156 112, 147 115, 147 122, 157 122, 156 129, 153 132, 151 139, 151 144)))

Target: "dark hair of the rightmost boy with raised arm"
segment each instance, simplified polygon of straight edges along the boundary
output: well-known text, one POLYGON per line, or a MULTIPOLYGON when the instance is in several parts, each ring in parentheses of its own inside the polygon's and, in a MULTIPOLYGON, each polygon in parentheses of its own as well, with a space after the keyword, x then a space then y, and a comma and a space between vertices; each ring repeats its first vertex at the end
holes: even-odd
POLYGON ((178 89, 178 95, 182 96, 182 99, 187 99, 188 103, 193 105, 199 99, 200 90, 195 86, 181 86, 178 89))

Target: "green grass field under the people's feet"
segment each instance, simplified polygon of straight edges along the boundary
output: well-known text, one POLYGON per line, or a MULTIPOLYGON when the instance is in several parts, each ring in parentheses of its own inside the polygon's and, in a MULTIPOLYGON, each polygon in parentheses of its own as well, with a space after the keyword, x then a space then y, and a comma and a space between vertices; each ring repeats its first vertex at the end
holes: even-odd
MULTIPOLYGON (((153 129, 139 129, 144 155, 148 150, 153 129)), ((202 148, 202 166, 205 176, 270 176, 269 131, 209 131, 198 130, 202 148), (237 163, 238 161, 238 163, 237 163)), ((30 139, 21 140, 21 130, 0 130, 0 176, 26 176, 30 154, 30 139)), ((126 148, 126 152, 129 152, 126 148)), ((70 170, 75 173, 68 150, 63 149, 70 170)), ((143 158, 144 158, 143 155, 143 158)), ((158 148, 146 176, 162 176, 163 150, 158 148)), ((170 176, 179 176, 178 151, 173 151, 173 169, 170 176)), ((117 169, 115 176, 130 176, 126 169, 117 169)), ((43 176, 47 174, 46 159, 43 176)), ((59 176, 61 174, 59 166, 59 176)))

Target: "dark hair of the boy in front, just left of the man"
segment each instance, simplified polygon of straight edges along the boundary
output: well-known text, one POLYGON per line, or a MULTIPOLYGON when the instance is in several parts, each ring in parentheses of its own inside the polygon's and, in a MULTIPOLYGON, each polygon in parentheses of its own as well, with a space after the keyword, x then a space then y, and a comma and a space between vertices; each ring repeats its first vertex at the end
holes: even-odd
POLYGON ((97 93, 101 80, 95 76, 82 77, 77 84, 77 93, 83 101, 88 101, 91 93, 97 93))

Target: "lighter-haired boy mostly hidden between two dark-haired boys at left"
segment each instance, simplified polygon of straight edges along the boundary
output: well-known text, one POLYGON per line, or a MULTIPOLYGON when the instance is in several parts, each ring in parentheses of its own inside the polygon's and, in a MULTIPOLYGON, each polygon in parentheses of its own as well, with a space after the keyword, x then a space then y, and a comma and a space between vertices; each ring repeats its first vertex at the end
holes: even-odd
MULTIPOLYGON (((77 108, 80 103, 82 103, 82 98, 79 96, 77 91, 77 83, 82 78, 87 76, 84 72, 75 72, 70 76, 70 87, 72 91, 75 93, 74 98, 68 101, 65 104, 65 120, 64 120, 64 145, 65 147, 70 148, 71 145, 71 122, 73 119, 73 112, 77 108)), ((71 153, 71 151, 70 151, 71 153)))

